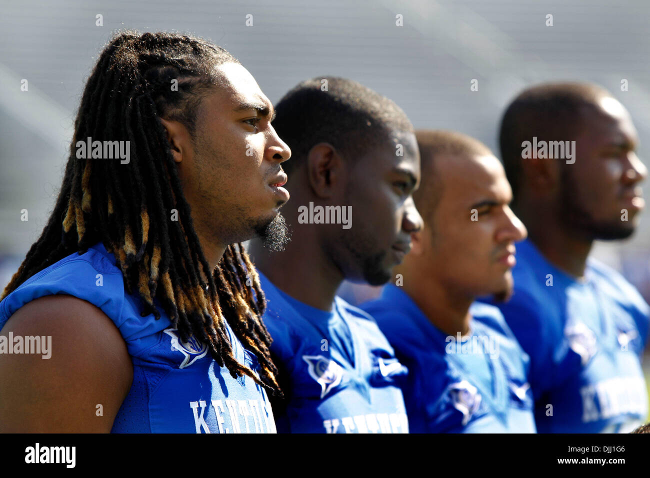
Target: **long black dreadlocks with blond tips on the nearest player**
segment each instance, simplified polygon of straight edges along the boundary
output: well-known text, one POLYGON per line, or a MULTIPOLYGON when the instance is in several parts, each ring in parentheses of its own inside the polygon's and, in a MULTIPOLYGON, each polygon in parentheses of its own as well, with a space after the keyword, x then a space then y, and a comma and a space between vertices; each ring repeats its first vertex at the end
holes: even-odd
POLYGON ((159 319, 159 300, 183 341, 195 336, 233 377, 246 374, 278 392, 257 272, 241 244, 227 246, 210 271, 159 119, 181 122, 194 139, 202 95, 217 82, 214 67, 226 62, 239 63, 194 36, 114 36, 86 83, 54 211, 3 298, 36 272, 102 241, 127 291, 142 300, 141 315, 159 319), (129 163, 77 158, 75 144, 87 137, 129 141, 129 163), (170 220, 172 209, 177 220, 170 220), (233 356, 226 320, 257 356, 261 379, 233 356))

